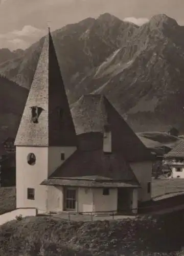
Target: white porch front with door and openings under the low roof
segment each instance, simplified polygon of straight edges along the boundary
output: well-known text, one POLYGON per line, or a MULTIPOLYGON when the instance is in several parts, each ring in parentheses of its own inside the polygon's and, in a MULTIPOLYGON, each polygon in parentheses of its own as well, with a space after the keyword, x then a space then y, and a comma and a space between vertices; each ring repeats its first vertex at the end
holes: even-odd
POLYGON ((48 186, 48 211, 136 214, 137 188, 48 186))

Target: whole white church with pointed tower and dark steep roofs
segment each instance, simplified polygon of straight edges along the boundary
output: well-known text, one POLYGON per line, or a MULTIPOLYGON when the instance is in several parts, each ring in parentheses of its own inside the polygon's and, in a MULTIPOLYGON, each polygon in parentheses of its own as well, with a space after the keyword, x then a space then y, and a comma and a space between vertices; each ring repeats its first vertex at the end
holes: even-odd
POLYGON ((16 206, 136 212, 153 156, 103 95, 70 106, 49 32, 16 140, 16 206))

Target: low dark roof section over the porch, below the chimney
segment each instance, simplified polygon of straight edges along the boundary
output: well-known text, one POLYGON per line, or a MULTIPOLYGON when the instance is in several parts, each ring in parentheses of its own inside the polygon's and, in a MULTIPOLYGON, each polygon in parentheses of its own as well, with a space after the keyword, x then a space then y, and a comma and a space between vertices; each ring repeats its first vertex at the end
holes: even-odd
POLYGON ((106 154, 102 150, 77 150, 49 177, 50 182, 53 179, 140 185, 122 152, 106 154))

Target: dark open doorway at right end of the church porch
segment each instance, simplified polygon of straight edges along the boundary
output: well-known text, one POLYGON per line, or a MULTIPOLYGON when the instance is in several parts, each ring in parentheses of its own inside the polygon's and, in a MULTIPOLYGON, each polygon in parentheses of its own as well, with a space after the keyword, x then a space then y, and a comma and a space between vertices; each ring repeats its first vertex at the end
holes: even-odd
POLYGON ((132 193, 131 188, 118 188, 118 212, 130 213, 132 211, 132 193))

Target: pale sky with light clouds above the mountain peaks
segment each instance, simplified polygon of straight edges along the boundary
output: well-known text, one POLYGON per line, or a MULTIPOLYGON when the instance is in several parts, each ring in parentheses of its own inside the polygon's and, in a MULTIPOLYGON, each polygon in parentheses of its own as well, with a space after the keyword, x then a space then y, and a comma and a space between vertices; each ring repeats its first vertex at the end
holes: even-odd
POLYGON ((164 13, 184 25, 184 0, 0 0, 0 49, 26 49, 51 30, 110 13, 137 25, 164 13))

